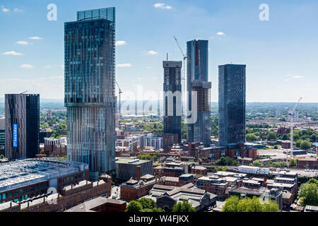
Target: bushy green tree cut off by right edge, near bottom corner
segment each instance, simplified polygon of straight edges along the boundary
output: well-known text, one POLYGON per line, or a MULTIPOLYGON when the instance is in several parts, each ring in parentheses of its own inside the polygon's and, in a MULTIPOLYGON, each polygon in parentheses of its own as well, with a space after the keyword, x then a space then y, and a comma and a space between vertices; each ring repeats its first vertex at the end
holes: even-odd
POLYGON ((318 206, 318 181, 310 179, 307 183, 300 186, 300 204, 302 206, 318 206))

